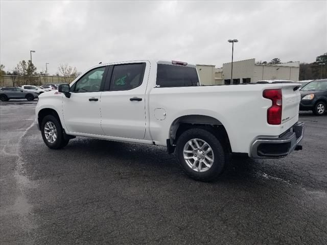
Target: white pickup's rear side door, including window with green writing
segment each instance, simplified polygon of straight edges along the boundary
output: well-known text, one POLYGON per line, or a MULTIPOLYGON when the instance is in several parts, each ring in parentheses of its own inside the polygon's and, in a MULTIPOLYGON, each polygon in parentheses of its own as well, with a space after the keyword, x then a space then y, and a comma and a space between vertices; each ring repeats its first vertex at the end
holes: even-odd
POLYGON ((101 127, 112 137, 145 137, 149 62, 111 65, 101 94, 101 127), (145 75, 146 74, 146 75, 145 75))

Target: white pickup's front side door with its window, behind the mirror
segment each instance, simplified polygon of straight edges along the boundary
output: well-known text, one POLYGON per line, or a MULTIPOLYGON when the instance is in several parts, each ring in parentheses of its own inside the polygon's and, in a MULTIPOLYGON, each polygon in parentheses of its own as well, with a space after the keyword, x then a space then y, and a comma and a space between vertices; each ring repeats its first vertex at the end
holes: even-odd
POLYGON ((103 135, 100 99, 104 67, 88 71, 71 87, 71 97, 63 98, 63 118, 69 132, 103 135))

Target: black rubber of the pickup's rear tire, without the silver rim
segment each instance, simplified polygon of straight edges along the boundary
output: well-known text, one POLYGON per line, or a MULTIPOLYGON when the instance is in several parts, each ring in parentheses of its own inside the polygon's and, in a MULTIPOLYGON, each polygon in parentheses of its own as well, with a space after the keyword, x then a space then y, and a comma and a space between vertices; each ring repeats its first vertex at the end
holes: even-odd
POLYGON ((224 147, 220 140, 214 135, 214 133, 201 128, 186 130, 179 136, 176 142, 176 157, 186 175, 192 179, 204 182, 217 179, 222 174, 227 159, 226 152, 224 151, 224 147), (191 139, 203 140, 211 147, 214 154, 214 161, 208 170, 203 172, 193 170, 184 160, 184 146, 191 139))

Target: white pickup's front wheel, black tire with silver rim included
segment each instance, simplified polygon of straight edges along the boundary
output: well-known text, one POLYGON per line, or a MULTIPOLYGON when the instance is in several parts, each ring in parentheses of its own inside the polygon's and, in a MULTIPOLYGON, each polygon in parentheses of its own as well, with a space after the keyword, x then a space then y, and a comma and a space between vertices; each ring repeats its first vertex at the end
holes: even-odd
POLYGON ((41 134, 44 143, 50 149, 60 149, 66 146, 69 139, 64 139, 59 120, 53 115, 47 115, 41 122, 41 134))

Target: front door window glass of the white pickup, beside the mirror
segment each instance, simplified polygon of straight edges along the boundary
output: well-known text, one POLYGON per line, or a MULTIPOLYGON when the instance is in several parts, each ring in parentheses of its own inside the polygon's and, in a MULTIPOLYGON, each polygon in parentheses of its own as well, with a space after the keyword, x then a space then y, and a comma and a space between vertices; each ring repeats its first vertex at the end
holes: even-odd
POLYGON ((106 67, 90 70, 74 84, 74 92, 97 92, 100 90, 106 67))

